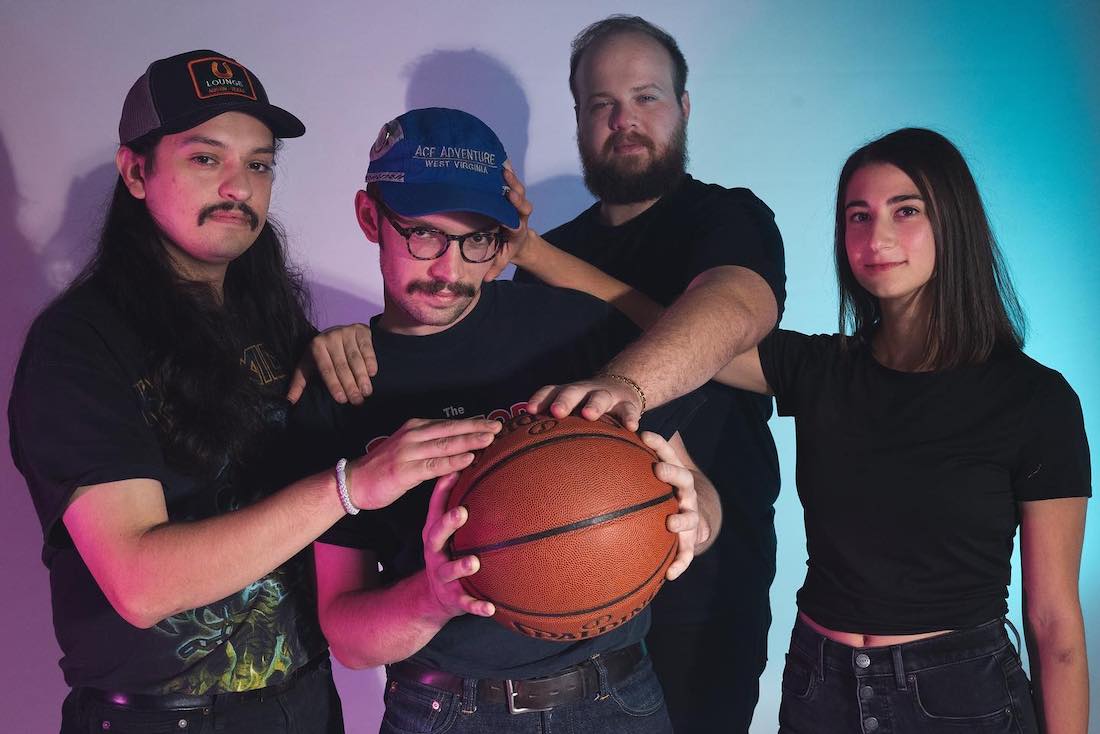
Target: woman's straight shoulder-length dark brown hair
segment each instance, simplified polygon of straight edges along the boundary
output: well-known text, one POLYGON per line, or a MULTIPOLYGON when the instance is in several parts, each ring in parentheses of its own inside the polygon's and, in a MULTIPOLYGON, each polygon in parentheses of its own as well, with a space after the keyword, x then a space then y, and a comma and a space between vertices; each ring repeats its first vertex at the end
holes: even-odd
POLYGON ((898 130, 864 145, 840 171, 835 240, 840 332, 869 342, 881 318, 878 298, 856 281, 845 250, 848 183, 857 171, 876 163, 903 171, 928 208, 936 264, 927 285, 925 364, 950 369, 985 362, 999 348, 1023 348, 1023 310, 970 168, 950 141, 921 128, 898 130))

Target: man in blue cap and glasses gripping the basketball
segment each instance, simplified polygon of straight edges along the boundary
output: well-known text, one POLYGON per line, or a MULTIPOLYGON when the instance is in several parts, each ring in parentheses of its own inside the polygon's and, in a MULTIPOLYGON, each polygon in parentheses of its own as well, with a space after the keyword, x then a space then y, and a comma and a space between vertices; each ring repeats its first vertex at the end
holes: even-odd
MULTIPOLYGON (((355 196, 359 223, 378 243, 385 305, 372 328, 383 369, 363 407, 338 405, 316 381, 298 402, 292 423, 318 445, 319 465, 364 445, 370 457, 410 416, 506 420, 536 387, 591 374, 636 333, 591 296, 491 282, 506 228, 522 229, 506 198, 505 158, 493 131, 458 110, 413 110, 383 128, 355 196)), ((680 534, 670 578, 717 533, 697 510, 714 490, 689 469, 675 432, 693 407, 672 403, 644 424, 669 438, 644 434, 661 459, 654 471, 680 497, 669 518, 680 534)), ((315 546, 333 654, 349 667, 387 665, 382 731, 505 734, 547 731, 552 719, 554 731, 578 734, 669 732, 641 642, 648 610, 571 643, 486 618, 493 605, 459 582, 476 573, 476 557, 446 551, 465 519, 462 508, 443 512, 452 484, 448 476, 344 518, 315 546)))

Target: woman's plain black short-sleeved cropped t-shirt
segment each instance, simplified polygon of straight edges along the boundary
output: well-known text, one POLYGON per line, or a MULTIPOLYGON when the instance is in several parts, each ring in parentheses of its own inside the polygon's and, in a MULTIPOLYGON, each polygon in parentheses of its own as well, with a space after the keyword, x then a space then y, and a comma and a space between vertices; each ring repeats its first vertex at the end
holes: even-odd
POLYGON ((779 330, 760 343, 779 412, 795 418, 799 609, 882 635, 1003 615, 1018 503, 1091 495, 1077 395, 1018 350, 897 372, 844 339, 779 330))

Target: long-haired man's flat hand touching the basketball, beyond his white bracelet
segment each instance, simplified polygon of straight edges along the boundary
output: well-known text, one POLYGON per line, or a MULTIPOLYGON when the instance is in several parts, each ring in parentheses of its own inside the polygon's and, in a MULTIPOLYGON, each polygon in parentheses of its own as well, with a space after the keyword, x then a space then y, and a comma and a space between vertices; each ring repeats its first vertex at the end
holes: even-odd
POLYGON ((461 469, 473 451, 493 442, 501 421, 487 418, 413 418, 393 436, 348 465, 352 502, 363 510, 385 507, 420 482, 461 469))

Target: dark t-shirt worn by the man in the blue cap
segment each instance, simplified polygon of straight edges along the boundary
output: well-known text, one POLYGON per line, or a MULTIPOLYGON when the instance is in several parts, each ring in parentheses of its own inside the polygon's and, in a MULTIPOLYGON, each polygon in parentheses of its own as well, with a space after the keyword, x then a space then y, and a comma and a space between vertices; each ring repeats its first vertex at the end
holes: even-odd
MULTIPOLYGON (((637 336, 632 324, 591 296, 509 282, 485 284, 474 309, 435 335, 403 336, 372 326, 378 374, 370 401, 362 407, 338 405, 322 386, 311 385, 292 412, 295 432, 319 465, 362 454, 364 446, 370 450, 414 417, 507 420, 524 412, 540 386, 592 375, 637 336)), ((694 398, 670 404, 647 415, 642 428, 668 438, 697 404, 694 398)), ((424 568, 420 534, 433 485, 425 482, 388 507, 348 516, 320 541, 375 552, 385 583, 411 576, 424 568)), ((464 615, 410 659, 471 678, 532 678, 635 643, 648 626, 647 610, 602 636, 559 643, 464 615)))

